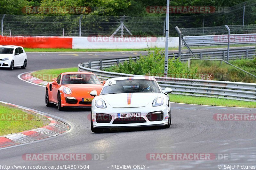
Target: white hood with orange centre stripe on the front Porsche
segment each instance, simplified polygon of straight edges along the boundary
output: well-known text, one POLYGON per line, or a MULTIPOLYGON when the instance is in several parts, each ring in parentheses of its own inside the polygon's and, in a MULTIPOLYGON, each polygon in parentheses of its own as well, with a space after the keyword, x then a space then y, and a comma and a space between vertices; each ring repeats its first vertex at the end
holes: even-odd
POLYGON ((152 104, 153 100, 161 96, 161 93, 118 93, 104 94, 103 98, 113 108, 145 107, 152 104))

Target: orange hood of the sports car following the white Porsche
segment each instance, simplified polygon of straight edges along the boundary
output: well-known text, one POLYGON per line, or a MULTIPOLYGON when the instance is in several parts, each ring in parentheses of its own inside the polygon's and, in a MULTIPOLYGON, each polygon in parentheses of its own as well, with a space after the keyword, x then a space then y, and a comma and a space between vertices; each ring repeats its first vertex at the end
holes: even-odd
POLYGON ((97 93, 100 94, 100 91, 103 87, 103 85, 91 85, 91 84, 63 85, 63 86, 70 88, 71 91, 75 92, 76 94, 90 93, 93 90, 96 90, 97 93))

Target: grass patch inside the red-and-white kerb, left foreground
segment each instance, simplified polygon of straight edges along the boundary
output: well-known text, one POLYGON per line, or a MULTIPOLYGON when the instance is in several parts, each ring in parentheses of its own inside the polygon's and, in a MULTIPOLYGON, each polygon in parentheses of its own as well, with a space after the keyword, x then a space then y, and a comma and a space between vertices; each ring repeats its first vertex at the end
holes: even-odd
POLYGON ((0 103, 0 136, 40 128, 49 123, 50 121, 46 117, 0 103), (14 117, 18 118, 18 120, 13 118, 9 120, 9 116, 15 114, 24 116, 24 118, 20 119, 16 115, 14 117))

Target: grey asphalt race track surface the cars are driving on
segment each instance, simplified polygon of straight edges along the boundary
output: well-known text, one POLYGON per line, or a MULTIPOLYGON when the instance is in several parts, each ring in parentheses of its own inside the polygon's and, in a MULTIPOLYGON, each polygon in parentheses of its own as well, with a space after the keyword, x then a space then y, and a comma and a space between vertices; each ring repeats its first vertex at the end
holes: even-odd
MULTIPOLYGON (((145 52, 143 52, 145 53, 145 52)), ((89 165, 90 169, 111 169, 111 165, 146 165, 146 169, 218 169, 218 165, 254 165, 256 161, 255 121, 215 121, 216 113, 256 113, 253 108, 211 107, 172 103, 169 129, 114 129, 94 134, 90 110, 45 106, 45 88, 17 78, 26 71, 75 67, 80 62, 139 55, 139 52, 28 53, 28 68, 0 69, 0 100, 33 108, 71 122, 66 134, 35 143, 0 150, 0 165, 89 165), (104 153, 106 160, 27 161, 25 153, 104 153), (228 160, 147 160, 147 153, 222 153, 228 160)), ((112 168, 113 169, 113 168, 112 168)))

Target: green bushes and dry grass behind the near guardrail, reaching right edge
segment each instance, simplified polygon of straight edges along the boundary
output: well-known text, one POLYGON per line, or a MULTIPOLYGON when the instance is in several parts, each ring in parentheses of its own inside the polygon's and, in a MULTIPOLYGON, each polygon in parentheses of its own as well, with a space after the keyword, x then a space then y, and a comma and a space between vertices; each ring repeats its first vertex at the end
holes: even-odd
MULTIPOLYGON (((253 60, 230 60, 230 63, 256 75, 256 58, 253 60)), ((140 56, 137 61, 129 60, 105 70, 128 74, 164 76, 164 53, 161 49, 155 48, 154 52, 149 51, 148 56, 140 56)), ((174 57, 169 59, 168 77, 256 83, 253 76, 224 62, 191 60, 190 68, 188 68, 188 62, 181 62, 179 58, 175 59, 174 57)))

